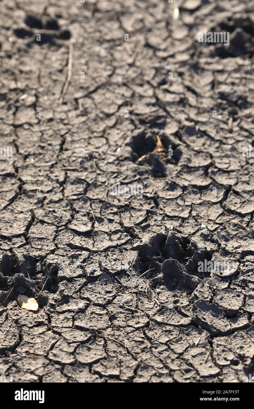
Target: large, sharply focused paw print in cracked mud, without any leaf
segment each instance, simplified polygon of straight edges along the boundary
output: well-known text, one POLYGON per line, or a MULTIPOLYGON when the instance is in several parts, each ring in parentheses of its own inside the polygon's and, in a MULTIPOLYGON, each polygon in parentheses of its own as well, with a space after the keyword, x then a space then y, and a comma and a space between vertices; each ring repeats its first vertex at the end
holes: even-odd
POLYGON ((154 288, 165 286, 169 291, 191 293, 205 278, 228 278, 237 274, 237 263, 228 261, 225 254, 218 251, 204 229, 192 238, 175 231, 167 235, 157 233, 135 249, 138 250, 137 268, 151 280, 154 288))

